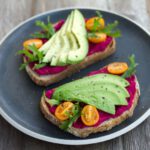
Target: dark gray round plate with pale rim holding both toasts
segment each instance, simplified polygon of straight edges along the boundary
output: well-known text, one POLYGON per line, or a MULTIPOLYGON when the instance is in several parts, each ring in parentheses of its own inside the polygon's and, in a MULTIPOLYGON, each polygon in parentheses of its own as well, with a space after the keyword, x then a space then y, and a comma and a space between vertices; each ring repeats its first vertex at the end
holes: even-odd
MULTIPOLYGON (((95 15, 95 9, 80 9, 86 18, 95 15)), ((35 85, 25 71, 18 70, 22 60, 15 56, 22 48, 22 42, 29 38, 30 33, 38 30, 35 20, 51 21, 65 19, 71 8, 54 10, 28 19, 12 30, 0 43, 0 113, 15 128, 20 131, 49 142, 83 145, 106 141, 120 136, 144 121, 150 115, 150 35, 142 27, 123 16, 112 12, 102 11, 107 22, 118 20, 122 37, 117 39, 117 52, 102 61, 94 64, 80 73, 74 74, 57 84, 47 87, 53 88, 72 79, 85 76, 88 72, 97 70, 113 61, 126 61, 130 54, 135 54, 139 63, 137 76, 141 86, 141 97, 132 118, 127 119, 119 126, 103 133, 92 134, 88 138, 80 139, 61 131, 49 123, 42 116, 39 101, 44 88, 35 85)))

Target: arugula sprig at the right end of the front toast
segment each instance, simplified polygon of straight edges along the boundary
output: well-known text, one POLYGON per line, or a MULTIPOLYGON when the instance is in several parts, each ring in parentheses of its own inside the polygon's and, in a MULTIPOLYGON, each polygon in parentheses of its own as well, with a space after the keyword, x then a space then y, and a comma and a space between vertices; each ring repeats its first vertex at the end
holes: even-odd
POLYGON ((136 72, 137 63, 135 62, 135 56, 132 54, 129 57, 130 65, 128 70, 122 75, 123 78, 128 78, 136 72))

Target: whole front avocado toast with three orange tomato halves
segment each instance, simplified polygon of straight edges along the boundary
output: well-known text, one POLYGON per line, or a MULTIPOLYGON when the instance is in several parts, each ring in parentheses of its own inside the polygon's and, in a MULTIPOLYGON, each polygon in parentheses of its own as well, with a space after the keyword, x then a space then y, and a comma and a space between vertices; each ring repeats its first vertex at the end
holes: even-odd
POLYGON ((134 56, 44 92, 45 118, 75 136, 110 130, 132 116, 140 96, 134 56))

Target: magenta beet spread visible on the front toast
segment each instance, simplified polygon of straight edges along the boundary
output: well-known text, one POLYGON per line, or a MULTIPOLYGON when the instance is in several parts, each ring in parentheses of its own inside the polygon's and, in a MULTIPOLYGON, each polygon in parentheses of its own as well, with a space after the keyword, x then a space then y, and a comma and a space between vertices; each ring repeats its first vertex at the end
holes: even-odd
MULTIPOLYGON (((99 73, 108 73, 107 68, 103 68, 103 69, 100 69, 100 70, 97 70, 97 71, 93 71, 93 72, 89 73, 88 76, 99 74, 99 73)), ((126 110, 129 110, 131 108, 131 106, 133 104, 134 96, 135 96, 135 93, 136 93, 135 76, 133 75, 130 78, 127 78, 127 80, 130 83, 130 85, 127 87, 127 90, 128 90, 128 92, 130 94, 130 98, 127 99, 128 105, 127 106, 116 106, 116 113, 115 113, 115 115, 108 114, 106 112, 103 112, 103 111, 99 110, 100 119, 94 126, 98 126, 101 123, 103 123, 104 121, 109 120, 111 118, 116 118, 116 117, 120 116, 123 112, 125 112, 126 110)), ((46 96, 48 98, 51 98, 52 95, 53 95, 53 92, 54 92, 54 90, 48 90, 46 92, 46 96)), ((52 114, 54 114, 56 106, 51 107, 49 104, 47 104, 47 106, 49 108, 49 111, 52 114)), ((75 128, 84 128, 84 127, 87 127, 87 126, 85 126, 82 123, 81 118, 79 118, 79 119, 77 119, 76 122, 73 123, 73 127, 75 127, 75 128)))

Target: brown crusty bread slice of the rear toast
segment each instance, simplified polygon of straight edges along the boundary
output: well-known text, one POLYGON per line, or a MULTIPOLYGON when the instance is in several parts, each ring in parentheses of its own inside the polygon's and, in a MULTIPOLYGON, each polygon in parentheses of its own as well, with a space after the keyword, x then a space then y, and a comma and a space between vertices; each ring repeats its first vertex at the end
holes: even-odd
MULTIPOLYGON (((112 55, 115 52, 115 48, 116 48, 116 41, 113 38, 112 42, 106 47, 106 49, 103 52, 97 52, 90 56, 87 56, 81 63, 69 65, 67 69, 57 74, 38 75, 29 66, 26 66, 26 71, 29 74, 30 78, 33 80, 33 82, 35 82, 37 85, 48 86, 66 77, 71 76, 75 72, 78 72, 81 69, 86 68, 87 66, 96 63, 99 60, 102 60, 112 55)), ((26 62, 25 59, 23 61, 26 62)))

